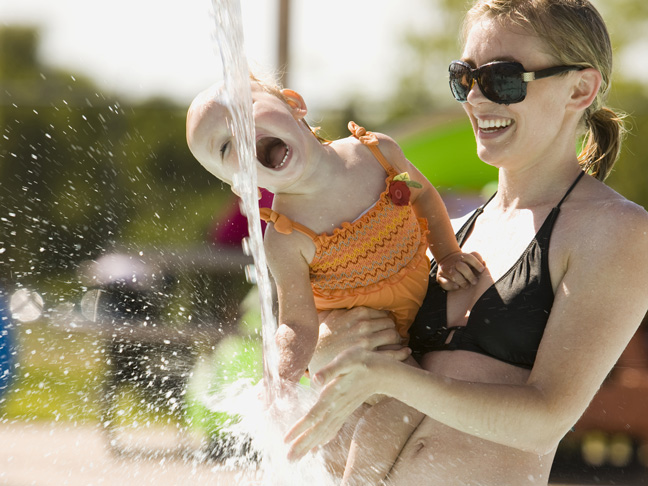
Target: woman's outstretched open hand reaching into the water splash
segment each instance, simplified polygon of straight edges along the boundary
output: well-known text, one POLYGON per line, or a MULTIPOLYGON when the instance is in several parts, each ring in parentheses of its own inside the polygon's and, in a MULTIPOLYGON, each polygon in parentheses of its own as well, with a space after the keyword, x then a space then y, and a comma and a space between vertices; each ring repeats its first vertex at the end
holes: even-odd
POLYGON ((284 438, 291 442, 288 458, 298 460, 311 449, 336 437, 351 414, 369 397, 381 393, 380 383, 397 361, 410 356, 409 348, 368 351, 362 346, 347 349, 314 377, 323 387, 310 411, 284 438), (396 360, 396 361, 395 361, 396 360))

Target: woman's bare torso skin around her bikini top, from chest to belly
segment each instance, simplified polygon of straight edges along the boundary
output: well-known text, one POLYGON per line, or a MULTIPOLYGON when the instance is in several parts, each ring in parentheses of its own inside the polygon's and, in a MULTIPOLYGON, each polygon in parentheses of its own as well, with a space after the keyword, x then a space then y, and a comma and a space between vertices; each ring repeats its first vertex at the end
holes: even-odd
MULTIPOLYGON (((581 181, 565 201, 554 225, 549 246, 549 271, 554 291, 562 281, 570 251, 580 235, 596 224, 598 208, 614 204, 618 196, 594 181, 581 181), (589 186, 589 187, 588 187, 589 186), (587 188, 587 189, 586 189, 587 188)), ((556 201, 559 199, 554 198, 556 201)), ((477 285, 450 292, 447 325, 465 325, 474 303, 522 255, 556 201, 533 211, 487 210, 477 219, 463 250, 478 251, 487 269, 477 285), (502 238, 501 235, 506 235, 502 238)), ((423 357, 422 368, 437 376, 488 384, 526 384, 530 371, 497 359, 463 350, 434 351, 423 357)), ((476 409, 477 412, 477 409, 476 409)), ((546 485, 555 450, 545 455, 501 445, 424 417, 409 438, 390 474, 393 486, 506 486, 546 485)), ((525 430, 520 430, 524 437, 525 430)))

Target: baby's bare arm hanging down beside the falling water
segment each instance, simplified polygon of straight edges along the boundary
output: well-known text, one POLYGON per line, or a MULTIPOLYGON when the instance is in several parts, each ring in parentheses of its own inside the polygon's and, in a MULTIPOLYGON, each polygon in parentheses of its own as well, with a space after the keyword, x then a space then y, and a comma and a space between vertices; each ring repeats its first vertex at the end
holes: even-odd
POLYGON ((266 229, 264 248, 268 267, 277 285, 279 323, 275 340, 279 353, 279 377, 297 382, 308 368, 319 321, 310 284, 308 262, 297 233, 280 234, 272 225, 266 229))

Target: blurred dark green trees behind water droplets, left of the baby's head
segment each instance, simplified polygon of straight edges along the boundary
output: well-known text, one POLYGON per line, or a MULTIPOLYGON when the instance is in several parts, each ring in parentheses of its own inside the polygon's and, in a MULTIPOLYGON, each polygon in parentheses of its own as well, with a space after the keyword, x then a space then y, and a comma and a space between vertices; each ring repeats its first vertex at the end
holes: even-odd
POLYGON ((51 288, 116 246, 204 241, 229 193, 190 154, 186 108, 99 93, 40 65, 37 39, 0 29, 0 283, 51 288))

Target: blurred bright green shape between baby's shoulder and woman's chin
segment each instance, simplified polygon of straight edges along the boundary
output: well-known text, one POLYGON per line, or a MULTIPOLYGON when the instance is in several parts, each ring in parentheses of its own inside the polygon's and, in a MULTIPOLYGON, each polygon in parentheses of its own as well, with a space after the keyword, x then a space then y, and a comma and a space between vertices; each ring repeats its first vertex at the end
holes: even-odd
POLYGON ((440 191, 480 193, 497 180, 497 169, 477 157, 475 135, 467 120, 436 124, 398 142, 405 156, 440 191))

